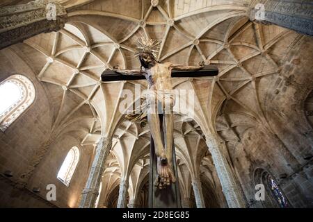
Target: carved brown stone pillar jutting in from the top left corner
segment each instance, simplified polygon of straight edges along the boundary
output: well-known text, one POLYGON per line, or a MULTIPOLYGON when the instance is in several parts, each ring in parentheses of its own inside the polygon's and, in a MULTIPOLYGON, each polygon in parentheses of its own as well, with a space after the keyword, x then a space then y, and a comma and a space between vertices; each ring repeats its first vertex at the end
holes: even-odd
POLYGON ((40 33, 58 31, 67 20, 65 8, 56 0, 35 0, 0 8, 0 49, 40 33))

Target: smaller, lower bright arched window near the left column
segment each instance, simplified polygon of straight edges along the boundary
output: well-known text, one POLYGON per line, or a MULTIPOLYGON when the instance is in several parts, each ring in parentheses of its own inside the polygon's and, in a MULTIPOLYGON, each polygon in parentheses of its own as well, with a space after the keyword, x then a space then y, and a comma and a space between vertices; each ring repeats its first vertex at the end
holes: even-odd
POLYGON ((63 164, 58 171, 58 179, 61 180, 67 187, 70 185, 73 173, 79 161, 79 148, 74 146, 67 153, 63 164))

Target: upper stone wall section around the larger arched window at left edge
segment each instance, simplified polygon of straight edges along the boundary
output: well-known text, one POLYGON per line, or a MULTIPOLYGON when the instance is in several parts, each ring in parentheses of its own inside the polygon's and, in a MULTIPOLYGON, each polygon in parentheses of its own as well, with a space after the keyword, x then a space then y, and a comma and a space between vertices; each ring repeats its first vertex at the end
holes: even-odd
POLYGON ((35 101, 3 133, 0 132, 0 172, 10 170, 18 178, 42 142, 49 137, 52 115, 49 96, 33 70, 13 49, 0 52, 0 81, 13 74, 23 74, 35 87, 35 101))

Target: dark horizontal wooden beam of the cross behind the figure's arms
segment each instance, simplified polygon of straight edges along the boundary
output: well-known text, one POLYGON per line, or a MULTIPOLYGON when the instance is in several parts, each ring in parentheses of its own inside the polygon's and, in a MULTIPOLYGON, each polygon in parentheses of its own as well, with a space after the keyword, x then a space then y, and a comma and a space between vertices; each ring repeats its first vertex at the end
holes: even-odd
MULTIPOLYGON (((195 78, 195 77, 206 77, 206 76, 217 76, 218 75, 218 68, 206 65, 202 69, 197 71, 177 71, 172 70, 172 77, 173 78, 195 78)), ((114 70, 105 70, 102 75, 101 79, 103 82, 112 82, 112 81, 121 81, 121 80, 141 80, 145 79, 145 76, 131 76, 131 75, 122 75, 118 74, 114 70)))

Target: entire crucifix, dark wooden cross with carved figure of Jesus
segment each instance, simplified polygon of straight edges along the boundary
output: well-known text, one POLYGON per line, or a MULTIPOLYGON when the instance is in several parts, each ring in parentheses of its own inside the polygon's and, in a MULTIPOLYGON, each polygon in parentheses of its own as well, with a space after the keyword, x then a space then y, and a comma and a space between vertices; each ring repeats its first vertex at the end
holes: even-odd
POLYGON ((175 94, 172 93, 171 78, 216 76, 218 69, 204 66, 174 65, 171 62, 157 61, 160 43, 156 40, 141 38, 137 42, 135 56, 141 62, 141 69, 106 70, 102 81, 146 79, 148 90, 146 94, 147 123, 149 123, 152 142, 150 146, 150 207, 179 207, 176 203, 180 198, 177 182, 177 166, 175 146, 173 142, 173 112, 175 94), (158 107, 161 106, 161 114, 158 107), (157 170, 155 170, 157 169, 157 170), (153 180, 153 181, 152 181, 153 180), (175 185, 173 185, 175 183, 175 185), (152 185, 153 184, 153 185, 152 185), (157 200, 156 194, 161 194, 157 200), (175 193, 173 195, 173 193, 175 193), (164 194, 172 200, 166 200, 164 194), (162 195, 161 195, 162 196, 162 195), (153 198, 155 200, 152 200, 153 198), (161 204, 160 204, 161 201, 161 204), (158 202, 158 203, 153 203, 158 202))

